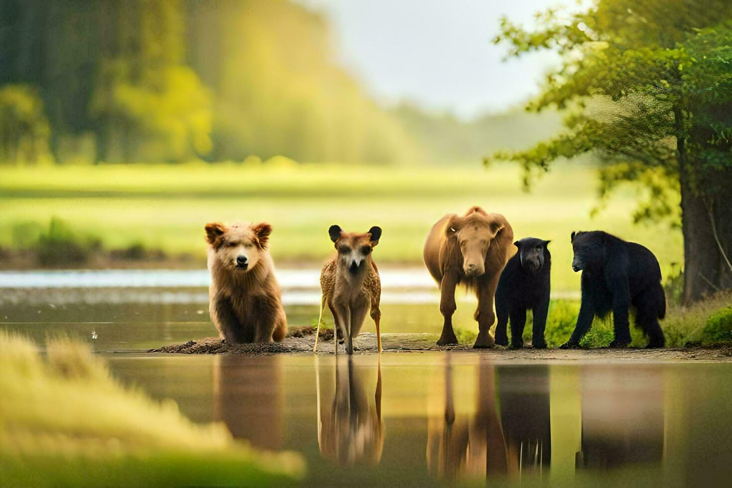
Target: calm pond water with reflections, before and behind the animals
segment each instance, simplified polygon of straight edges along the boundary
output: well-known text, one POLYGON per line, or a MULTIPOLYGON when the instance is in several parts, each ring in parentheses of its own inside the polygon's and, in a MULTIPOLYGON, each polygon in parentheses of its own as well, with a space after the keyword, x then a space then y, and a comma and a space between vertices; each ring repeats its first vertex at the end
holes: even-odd
MULTIPOLYGON (((730 363, 526 361, 490 351, 149 354, 215 334, 200 282, 131 285, 98 273, 105 285, 79 287, 58 277, 77 285, 46 288, 53 283, 15 274, 16 287, 29 285, 0 290, 0 326, 41 342, 81 337, 116 378, 175 400, 194 421, 223 421, 255 446, 302 453, 306 484, 703 486, 732 475, 730 363)), ((317 317, 312 303, 292 299, 313 290, 284 288, 291 325, 317 317)), ((417 280, 389 290, 435 295, 417 280)), ((439 331, 432 300, 386 304, 382 330, 439 331)), ((456 322, 474 327, 474 302, 458 306, 456 322)))

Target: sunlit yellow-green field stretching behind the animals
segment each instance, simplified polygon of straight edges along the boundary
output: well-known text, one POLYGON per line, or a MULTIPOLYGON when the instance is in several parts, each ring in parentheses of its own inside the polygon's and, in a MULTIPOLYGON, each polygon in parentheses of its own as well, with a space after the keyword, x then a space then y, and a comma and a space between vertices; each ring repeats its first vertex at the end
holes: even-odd
POLYGON ((384 234, 377 263, 418 265, 430 226, 449 212, 480 205, 504 214, 516 239, 551 239, 554 290, 577 290, 570 269, 572 230, 602 229, 649 247, 664 274, 682 259, 681 233, 668 225, 632 225, 635 191, 621 189, 594 219, 592 168, 558 165, 530 193, 515 166, 474 168, 347 165, 190 164, 3 168, 0 247, 32 245, 51 217, 108 249, 132 244, 189 254, 203 266, 203 225, 266 220, 280 266, 313 266, 331 252, 329 225, 384 234))

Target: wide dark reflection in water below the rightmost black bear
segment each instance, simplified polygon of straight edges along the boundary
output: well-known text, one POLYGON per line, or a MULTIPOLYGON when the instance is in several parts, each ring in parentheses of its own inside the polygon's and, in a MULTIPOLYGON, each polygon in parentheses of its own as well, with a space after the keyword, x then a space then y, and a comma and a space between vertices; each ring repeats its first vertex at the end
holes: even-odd
POLYGON ((618 468, 663 457, 660 369, 586 368, 582 380, 582 451, 578 468, 618 468))

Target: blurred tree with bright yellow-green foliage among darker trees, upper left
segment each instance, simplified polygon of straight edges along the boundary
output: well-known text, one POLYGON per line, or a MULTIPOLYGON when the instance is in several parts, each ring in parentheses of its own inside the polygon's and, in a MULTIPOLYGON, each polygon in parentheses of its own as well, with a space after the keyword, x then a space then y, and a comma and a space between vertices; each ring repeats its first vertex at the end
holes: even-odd
POLYGON ((181 161, 209 153, 212 96, 184 64, 179 0, 109 4, 115 36, 100 52, 90 111, 97 159, 181 161))

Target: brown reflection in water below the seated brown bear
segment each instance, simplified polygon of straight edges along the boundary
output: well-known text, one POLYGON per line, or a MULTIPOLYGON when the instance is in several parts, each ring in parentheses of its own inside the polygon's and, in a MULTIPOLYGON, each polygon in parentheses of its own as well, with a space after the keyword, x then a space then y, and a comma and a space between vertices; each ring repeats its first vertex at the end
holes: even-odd
POLYGON ((283 443, 280 358, 214 356, 214 421, 253 446, 279 449, 283 443))

